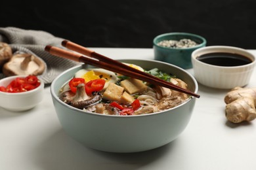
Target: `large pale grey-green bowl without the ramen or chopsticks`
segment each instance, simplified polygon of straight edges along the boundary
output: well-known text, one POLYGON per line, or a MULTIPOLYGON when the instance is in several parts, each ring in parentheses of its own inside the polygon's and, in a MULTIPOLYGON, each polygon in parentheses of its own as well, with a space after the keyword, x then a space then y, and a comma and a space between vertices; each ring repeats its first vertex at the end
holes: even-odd
MULTIPOLYGON (((123 59, 144 69, 160 68, 184 80, 192 92, 198 92, 196 79, 183 69, 153 60, 123 59)), ((56 77, 51 84, 51 95, 58 120, 64 131, 79 143, 107 152, 140 152, 158 148, 175 140, 185 129, 196 98, 163 112, 135 116, 114 116, 84 112, 58 99, 58 92, 75 72, 85 65, 73 67, 56 77)))

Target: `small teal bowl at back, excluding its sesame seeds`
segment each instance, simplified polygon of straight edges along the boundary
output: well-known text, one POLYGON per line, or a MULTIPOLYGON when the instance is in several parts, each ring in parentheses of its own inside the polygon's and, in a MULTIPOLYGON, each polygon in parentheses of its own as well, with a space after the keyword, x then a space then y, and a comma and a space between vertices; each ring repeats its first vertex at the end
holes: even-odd
POLYGON ((166 63, 171 63, 177 65, 182 69, 191 69, 192 61, 191 54, 194 50, 201 48, 206 45, 206 40, 200 35, 195 35, 192 33, 165 33, 158 35, 153 40, 154 48, 154 59, 158 61, 164 61, 166 63), (181 39, 190 39, 197 43, 196 46, 189 48, 171 48, 158 45, 158 42, 164 40, 175 40, 179 41, 181 39))

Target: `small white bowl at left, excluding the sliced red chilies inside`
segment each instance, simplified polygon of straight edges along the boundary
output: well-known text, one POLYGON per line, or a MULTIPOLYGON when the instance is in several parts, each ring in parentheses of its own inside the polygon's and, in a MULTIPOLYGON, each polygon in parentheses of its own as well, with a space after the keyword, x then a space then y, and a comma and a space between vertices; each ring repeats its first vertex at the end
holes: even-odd
MULTIPOLYGON (((0 80, 0 86, 7 86, 12 80, 16 77, 25 77, 25 76, 9 76, 0 80)), ((3 107, 6 110, 11 111, 24 111, 29 110, 35 107, 43 99, 43 88, 44 83, 41 78, 38 78, 41 82, 40 86, 30 90, 28 92, 20 93, 7 93, 0 92, 0 107, 3 107)))

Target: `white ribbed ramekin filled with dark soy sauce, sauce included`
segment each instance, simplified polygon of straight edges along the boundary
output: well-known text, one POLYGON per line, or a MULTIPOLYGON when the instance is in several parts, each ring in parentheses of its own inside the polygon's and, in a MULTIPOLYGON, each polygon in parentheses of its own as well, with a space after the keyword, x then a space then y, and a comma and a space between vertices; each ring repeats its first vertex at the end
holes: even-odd
POLYGON ((192 52, 194 76, 211 88, 232 89, 249 83, 255 56, 234 46, 206 46, 192 52))

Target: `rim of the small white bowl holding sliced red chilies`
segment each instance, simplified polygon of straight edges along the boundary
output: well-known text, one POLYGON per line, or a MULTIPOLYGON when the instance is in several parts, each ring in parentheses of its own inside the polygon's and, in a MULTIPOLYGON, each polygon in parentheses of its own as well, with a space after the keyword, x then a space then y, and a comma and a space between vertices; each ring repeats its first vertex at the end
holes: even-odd
MULTIPOLYGON (((5 77, 5 78, 2 78, 1 80, 0 80, 0 82, 1 81, 3 81, 3 80, 10 80, 10 81, 12 81, 12 80, 14 80, 15 78, 17 78, 17 77, 22 77, 22 78, 24 78, 24 77, 26 77, 26 76, 28 76, 28 75, 16 75, 16 76, 7 76, 7 77, 5 77)), ((33 93, 33 92, 35 92, 35 91, 37 91, 37 90, 39 90, 39 89, 41 89, 41 88, 44 88, 44 86, 45 86, 45 84, 44 84, 44 82, 43 82, 43 80, 39 77, 39 76, 37 76, 37 78, 38 78, 38 80, 40 81, 40 85, 37 87, 37 88, 34 88, 33 90, 30 90, 30 91, 27 91, 27 92, 20 92, 20 93, 8 93, 8 92, 1 92, 0 91, 0 94, 2 94, 2 95, 28 95, 28 94, 30 94, 30 93, 33 93)))

